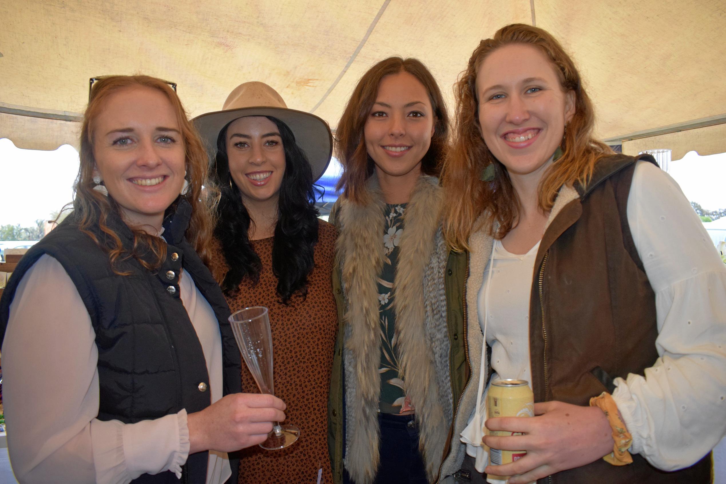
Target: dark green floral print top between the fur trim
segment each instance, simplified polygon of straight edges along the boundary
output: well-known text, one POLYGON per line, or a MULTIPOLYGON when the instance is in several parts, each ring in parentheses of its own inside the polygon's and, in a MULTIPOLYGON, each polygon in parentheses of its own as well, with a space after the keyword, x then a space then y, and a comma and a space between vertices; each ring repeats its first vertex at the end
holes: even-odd
POLYGON ((393 310, 396 263, 399 243, 404 231, 406 204, 386 204, 386 222, 383 224, 383 271, 378 277, 378 303, 380 314, 380 403, 378 410, 386 414, 400 414, 414 408, 406 396, 406 384, 399 377, 399 351, 396 347, 396 313, 393 310))

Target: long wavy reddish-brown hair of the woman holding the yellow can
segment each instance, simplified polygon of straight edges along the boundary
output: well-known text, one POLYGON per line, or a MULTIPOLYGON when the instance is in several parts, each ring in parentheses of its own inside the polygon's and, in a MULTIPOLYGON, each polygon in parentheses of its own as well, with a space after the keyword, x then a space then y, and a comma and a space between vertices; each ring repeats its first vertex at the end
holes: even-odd
POLYGON ((592 137, 595 110, 582 85, 582 78, 571 57, 545 30, 521 23, 506 25, 494 37, 479 42, 466 69, 454 84, 457 102, 454 140, 442 171, 445 187, 444 237, 454 250, 467 250, 469 235, 482 213, 494 237, 501 239, 513 229, 520 210, 507 169, 487 149, 481 137, 476 94, 476 74, 486 57, 503 46, 525 44, 541 49, 560 78, 563 91, 575 94, 575 113, 567 125, 563 155, 553 163, 539 182, 539 208, 552 209, 563 185, 578 182, 583 186, 592 176, 600 158, 611 155, 608 145, 592 137), (494 164, 494 180, 481 181, 484 169, 494 164), (494 221, 499 230, 494 232, 494 221))

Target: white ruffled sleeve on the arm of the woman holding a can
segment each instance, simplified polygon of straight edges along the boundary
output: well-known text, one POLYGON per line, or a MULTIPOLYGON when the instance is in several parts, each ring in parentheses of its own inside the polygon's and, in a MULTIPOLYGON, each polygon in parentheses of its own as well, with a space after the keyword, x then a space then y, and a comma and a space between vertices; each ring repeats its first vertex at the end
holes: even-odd
POLYGON ((658 360, 617 378, 631 451, 666 471, 698 462, 726 432, 726 266, 680 187, 638 162, 627 217, 656 294, 658 360))

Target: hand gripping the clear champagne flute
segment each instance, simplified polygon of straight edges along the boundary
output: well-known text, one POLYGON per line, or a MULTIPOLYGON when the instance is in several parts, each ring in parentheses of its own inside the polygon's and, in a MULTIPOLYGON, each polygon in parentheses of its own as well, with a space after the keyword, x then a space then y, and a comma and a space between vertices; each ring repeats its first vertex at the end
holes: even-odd
POLYGON ((272 422, 285 420, 285 403, 274 395, 234 393, 187 416, 189 454, 232 452, 263 443, 272 422))

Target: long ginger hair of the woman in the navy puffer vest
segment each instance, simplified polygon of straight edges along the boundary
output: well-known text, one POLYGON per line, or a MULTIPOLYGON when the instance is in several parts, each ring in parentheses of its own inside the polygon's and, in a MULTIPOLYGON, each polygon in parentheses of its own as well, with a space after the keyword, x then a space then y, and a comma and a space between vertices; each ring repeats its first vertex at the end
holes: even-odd
POLYGON ((107 223, 112 211, 121 216, 118 203, 113 200, 113 194, 107 196, 94 190, 94 186, 96 186, 93 181, 93 171, 96 166, 93 154, 94 121, 104 110, 107 99, 111 94, 135 86, 160 91, 174 107, 181 138, 184 142, 184 165, 187 170, 185 179, 189 182, 189 191, 183 197, 192 205, 192 218, 189 221, 186 237, 192 247, 195 247, 200 258, 208 265, 211 236, 214 228, 213 208, 219 198, 217 196, 218 191, 207 181, 208 157, 196 129, 187 119, 187 112, 184 111, 176 92, 165 81, 148 75, 113 75, 94 83, 91 99, 88 107, 86 107, 86 112, 83 114, 81 152, 79 153, 81 165, 78 168, 76 184, 73 186, 73 210, 78 229, 89 235, 99 247, 107 251, 111 266, 116 274, 130 274, 118 271, 115 267, 117 261, 135 258, 144 268, 153 271, 161 266, 166 258, 166 242, 163 239, 132 226, 129 226, 129 229, 134 234, 134 244, 131 250, 124 248, 121 238, 107 223), (202 186, 204 186, 205 193, 202 192, 202 186), (105 234, 105 241, 103 242, 99 241, 98 237, 91 231, 91 227, 96 223, 98 223, 102 233, 105 234), (152 254, 151 258, 147 255, 149 251, 152 254), (144 258, 142 258, 142 255, 144 255, 144 258))

